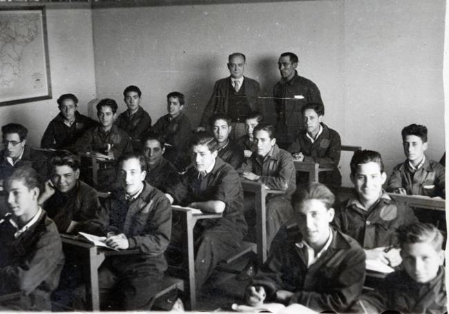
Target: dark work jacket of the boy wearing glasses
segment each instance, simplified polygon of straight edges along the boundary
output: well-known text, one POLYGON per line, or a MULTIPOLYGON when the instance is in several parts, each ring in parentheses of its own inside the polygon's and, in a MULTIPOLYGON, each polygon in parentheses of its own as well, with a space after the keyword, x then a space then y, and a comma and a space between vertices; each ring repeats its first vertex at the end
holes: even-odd
POLYGON ((35 150, 34 148, 25 145, 25 148, 23 148, 22 158, 17 161, 14 166, 6 161, 5 150, 0 152, 0 180, 7 179, 10 175, 12 175, 15 168, 22 166, 32 167, 37 171, 37 173, 39 173, 42 179, 44 179, 47 175, 46 156, 39 152, 39 150, 35 150))

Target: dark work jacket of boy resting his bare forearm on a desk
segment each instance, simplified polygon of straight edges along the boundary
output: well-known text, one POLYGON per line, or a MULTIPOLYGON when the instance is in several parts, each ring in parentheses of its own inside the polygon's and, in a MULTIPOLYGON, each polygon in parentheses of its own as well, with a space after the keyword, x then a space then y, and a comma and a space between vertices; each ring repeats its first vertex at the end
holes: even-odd
POLYGON ((243 216, 243 188, 240 177, 231 165, 216 158, 210 173, 198 179, 194 167, 180 177, 180 184, 167 188, 175 204, 187 206, 192 202, 221 201, 226 204, 223 215, 218 219, 207 219, 215 225, 222 225, 242 235, 247 233, 247 222, 243 216))

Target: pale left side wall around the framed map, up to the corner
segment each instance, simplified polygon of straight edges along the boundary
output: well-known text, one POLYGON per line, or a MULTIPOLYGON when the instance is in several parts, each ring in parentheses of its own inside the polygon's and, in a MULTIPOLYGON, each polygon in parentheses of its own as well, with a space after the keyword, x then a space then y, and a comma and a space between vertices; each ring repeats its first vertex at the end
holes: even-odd
POLYGON ((79 112, 95 99, 92 17, 87 9, 47 9, 48 52, 52 99, 0 107, 0 125, 10 122, 28 128, 28 144, 40 146, 50 120, 59 112, 56 99, 72 92, 79 99, 79 112))

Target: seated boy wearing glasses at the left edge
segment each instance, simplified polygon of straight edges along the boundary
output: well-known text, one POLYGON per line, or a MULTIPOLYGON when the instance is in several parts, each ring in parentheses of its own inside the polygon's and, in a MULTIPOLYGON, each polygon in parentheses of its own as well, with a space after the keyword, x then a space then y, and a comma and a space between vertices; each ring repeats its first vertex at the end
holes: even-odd
POLYGON ((46 175, 46 158, 26 144, 28 130, 21 124, 6 124, 1 127, 3 150, 0 152, 0 181, 8 178, 15 168, 30 166, 41 177, 46 175))

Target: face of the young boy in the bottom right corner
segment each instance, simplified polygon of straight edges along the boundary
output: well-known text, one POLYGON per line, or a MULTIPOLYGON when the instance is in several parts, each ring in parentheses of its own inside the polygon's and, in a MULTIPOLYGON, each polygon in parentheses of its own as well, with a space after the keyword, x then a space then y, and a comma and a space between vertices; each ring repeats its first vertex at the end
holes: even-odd
POLYGON ((401 249, 402 264, 415 282, 424 284, 437 276, 444 262, 444 251, 435 250, 429 242, 405 244, 401 249))

